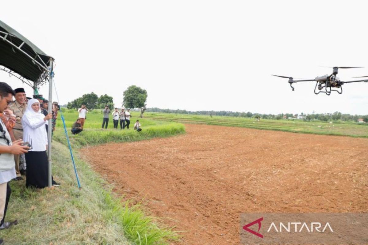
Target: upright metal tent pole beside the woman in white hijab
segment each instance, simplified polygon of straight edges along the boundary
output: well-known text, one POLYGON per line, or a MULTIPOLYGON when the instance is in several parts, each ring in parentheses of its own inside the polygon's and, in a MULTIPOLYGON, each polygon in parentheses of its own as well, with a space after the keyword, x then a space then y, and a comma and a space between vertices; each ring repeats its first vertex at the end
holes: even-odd
MULTIPOLYGON (((52 113, 52 83, 53 83, 53 66, 54 66, 54 60, 53 58, 50 58, 50 71, 49 71, 49 108, 48 113, 52 113)), ((49 119, 49 126, 47 127, 47 160, 49 161, 49 187, 52 187, 52 161, 51 161, 51 139, 52 139, 52 119, 49 119)))

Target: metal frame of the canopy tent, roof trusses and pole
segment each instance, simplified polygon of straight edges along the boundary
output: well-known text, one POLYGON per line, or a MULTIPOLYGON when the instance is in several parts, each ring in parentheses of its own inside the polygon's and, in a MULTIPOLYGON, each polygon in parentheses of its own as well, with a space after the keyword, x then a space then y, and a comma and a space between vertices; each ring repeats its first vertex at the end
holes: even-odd
MULTIPOLYGON (((7 32, 3 32, 0 31, 0 34, 4 34, 5 36, 0 35, 0 42, 1 41, 5 41, 7 43, 9 43, 12 48, 16 48, 18 51, 21 51, 23 54, 25 54, 28 58, 30 58, 32 60, 32 63, 34 65, 36 65, 38 67, 38 69, 40 69, 41 74, 38 77, 38 79, 33 82, 32 81, 24 78, 23 76, 21 76, 20 74, 12 71, 9 68, 6 68, 5 66, 0 66, 0 70, 5 71, 7 73, 9 73, 9 75, 13 75, 16 78, 20 79, 23 83, 27 84, 28 86, 32 87, 33 91, 41 84, 46 84, 47 81, 49 82, 49 108, 48 108, 48 113, 52 113, 52 83, 53 83, 53 77, 54 77, 54 59, 52 57, 50 57, 50 65, 47 66, 45 64, 45 62, 42 60, 42 58, 39 56, 38 53, 35 52, 35 58, 31 57, 31 55, 27 54, 25 51, 23 51, 21 49, 21 47, 24 45, 25 42, 22 42, 19 46, 15 45, 14 43, 12 43, 11 41, 9 41, 7 39, 8 36, 14 36, 13 34, 7 33, 7 32), (1 40, 2 39, 2 40, 1 40), (36 58, 39 58, 39 61, 36 60, 36 58)), ((47 149, 47 159, 49 162, 49 187, 52 187, 52 160, 51 160, 51 139, 52 139, 52 119, 48 120, 49 123, 49 127, 48 127, 48 131, 47 131, 47 141, 48 141, 48 149, 47 149)))

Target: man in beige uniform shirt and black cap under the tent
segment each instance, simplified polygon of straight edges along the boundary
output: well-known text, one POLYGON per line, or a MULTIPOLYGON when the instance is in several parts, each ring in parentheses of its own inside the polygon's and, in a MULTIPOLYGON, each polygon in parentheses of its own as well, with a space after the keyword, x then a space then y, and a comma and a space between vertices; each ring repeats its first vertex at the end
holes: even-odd
MULTIPOLYGON (((15 125, 13 127, 13 133, 15 140, 23 140, 22 117, 25 112, 25 108, 27 108, 26 95, 23 88, 14 89, 14 91, 15 101, 9 105, 15 115, 15 125)), ((15 173, 17 174, 17 177, 14 180, 23 179, 19 171, 19 158, 20 155, 14 155, 15 173)))

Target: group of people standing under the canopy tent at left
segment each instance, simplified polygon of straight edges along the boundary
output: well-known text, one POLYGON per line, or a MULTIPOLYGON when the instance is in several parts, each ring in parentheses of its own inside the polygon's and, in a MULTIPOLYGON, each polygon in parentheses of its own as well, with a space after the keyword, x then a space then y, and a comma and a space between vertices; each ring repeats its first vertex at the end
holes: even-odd
MULTIPOLYGON (((25 155, 26 186, 48 186, 46 125, 56 113, 42 114, 45 100, 40 102, 42 95, 34 97, 27 98, 23 88, 13 90, 7 83, 0 82, 0 230, 18 223, 17 220, 4 222, 4 218, 11 194, 9 181, 23 179, 19 167, 22 154, 25 155)), ((60 185, 54 180, 52 184, 60 185)))

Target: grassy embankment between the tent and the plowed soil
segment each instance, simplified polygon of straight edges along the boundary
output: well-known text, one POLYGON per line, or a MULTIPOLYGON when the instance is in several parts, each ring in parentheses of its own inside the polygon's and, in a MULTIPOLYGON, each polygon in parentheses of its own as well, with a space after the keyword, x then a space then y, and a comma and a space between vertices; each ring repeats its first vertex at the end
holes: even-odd
MULTIPOLYGON (((100 123, 91 119, 88 118, 92 127, 98 128, 100 123)), ((168 244, 178 239, 177 233, 161 219, 147 215, 143 205, 121 201, 111 191, 112 186, 81 160, 78 148, 168 137, 185 133, 184 125, 147 120, 143 131, 137 132, 93 129, 89 122, 78 135, 71 135, 68 128, 82 190, 77 188, 59 117, 52 159, 53 176, 61 186, 37 190, 25 188, 25 180, 11 181, 13 193, 6 220, 18 219, 19 224, 1 231, 0 237, 6 244, 168 244)))

